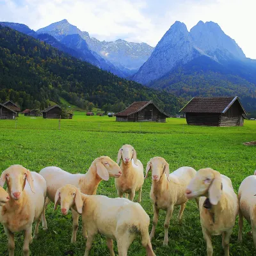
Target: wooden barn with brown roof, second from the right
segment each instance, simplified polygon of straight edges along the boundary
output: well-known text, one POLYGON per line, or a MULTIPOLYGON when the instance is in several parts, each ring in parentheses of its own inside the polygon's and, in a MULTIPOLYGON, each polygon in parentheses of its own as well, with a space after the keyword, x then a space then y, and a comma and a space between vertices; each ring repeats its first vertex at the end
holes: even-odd
POLYGON ((152 100, 133 102, 115 116, 118 122, 166 122, 166 117, 169 117, 152 100))

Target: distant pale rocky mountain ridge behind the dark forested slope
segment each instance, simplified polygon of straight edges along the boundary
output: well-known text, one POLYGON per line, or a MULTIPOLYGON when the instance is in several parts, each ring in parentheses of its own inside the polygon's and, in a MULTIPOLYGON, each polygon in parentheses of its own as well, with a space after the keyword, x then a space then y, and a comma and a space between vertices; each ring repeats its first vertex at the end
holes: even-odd
POLYGON ((48 33, 57 40, 62 40, 66 35, 78 34, 86 40, 90 50, 97 52, 101 58, 122 70, 125 76, 134 74, 147 61, 154 49, 145 43, 131 43, 121 39, 115 42, 100 42, 96 38, 90 37, 88 32, 81 31, 68 23, 66 19, 38 29, 37 33, 48 33))

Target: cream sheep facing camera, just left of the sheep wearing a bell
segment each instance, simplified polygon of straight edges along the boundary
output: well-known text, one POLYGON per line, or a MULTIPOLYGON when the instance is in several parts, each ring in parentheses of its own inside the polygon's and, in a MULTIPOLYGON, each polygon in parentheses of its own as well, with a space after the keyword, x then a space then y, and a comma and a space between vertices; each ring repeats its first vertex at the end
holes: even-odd
MULTIPOLYGON (((157 226, 159 209, 166 211, 164 221, 164 241, 163 246, 168 245, 168 228, 170 219, 172 218, 173 208, 175 205, 180 205, 178 220, 181 223, 182 214, 186 207, 185 191, 190 180, 195 177, 196 170, 191 167, 181 167, 169 174, 169 164, 163 157, 153 157, 148 161, 146 168, 146 176, 152 170, 152 186, 150 190, 150 198, 153 201, 153 226, 150 233, 150 239, 154 238, 157 226), (165 174, 165 175, 164 175, 165 174)), ((198 204, 198 198, 196 204, 198 204)))

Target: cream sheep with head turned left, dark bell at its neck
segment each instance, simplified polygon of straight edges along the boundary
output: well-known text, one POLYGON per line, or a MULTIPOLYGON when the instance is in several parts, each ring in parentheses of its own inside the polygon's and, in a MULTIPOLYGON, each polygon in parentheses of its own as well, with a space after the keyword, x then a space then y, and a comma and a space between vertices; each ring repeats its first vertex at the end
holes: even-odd
POLYGON ((222 234, 225 256, 229 255, 229 240, 238 212, 238 200, 231 180, 211 168, 198 170, 186 190, 191 199, 199 200, 200 222, 207 243, 207 256, 213 253, 211 236, 222 234))

